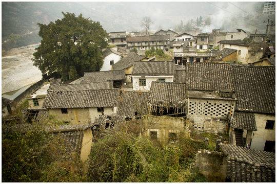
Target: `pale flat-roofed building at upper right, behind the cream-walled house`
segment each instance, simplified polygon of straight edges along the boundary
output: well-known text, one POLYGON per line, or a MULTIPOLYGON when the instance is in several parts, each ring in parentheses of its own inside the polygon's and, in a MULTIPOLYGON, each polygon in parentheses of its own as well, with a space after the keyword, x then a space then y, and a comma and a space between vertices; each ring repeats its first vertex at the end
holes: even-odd
POLYGON ((237 32, 221 32, 219 29, 212 30, 211 33, 201 33, 197 35, 197 49, 212 49, 219 45, 221 40, 237 40, 247 37, 247 33, 242 29, 237 32))

